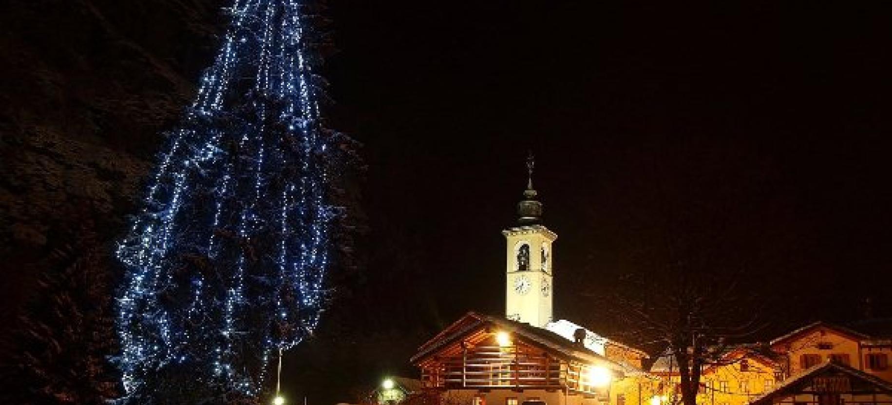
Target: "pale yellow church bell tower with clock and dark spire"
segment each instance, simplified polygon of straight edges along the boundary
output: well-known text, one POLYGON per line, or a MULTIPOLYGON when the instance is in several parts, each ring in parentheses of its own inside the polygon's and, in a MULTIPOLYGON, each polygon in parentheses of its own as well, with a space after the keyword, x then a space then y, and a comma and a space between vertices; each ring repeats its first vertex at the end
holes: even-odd
POLYGON ((533 166, 531 155, 526 161, 524 199, 517 204, 517 225, 502 231, 507 242, 505 316, 545 327, 552 320, 551 246, 558 236, 541 225, 542 203, 533 189, 533 166))

